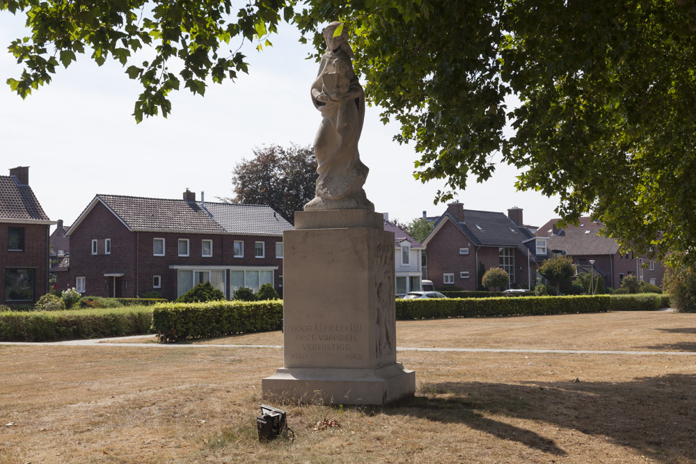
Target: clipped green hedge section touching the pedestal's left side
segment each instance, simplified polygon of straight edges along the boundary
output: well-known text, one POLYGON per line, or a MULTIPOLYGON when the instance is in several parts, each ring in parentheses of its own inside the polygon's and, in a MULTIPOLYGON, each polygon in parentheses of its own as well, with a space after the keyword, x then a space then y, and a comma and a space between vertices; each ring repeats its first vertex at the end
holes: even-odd
POLYGON ((282 300, 163 303, 152 310, 152 330, 162 343, 280 330, 282 323, 282 300))

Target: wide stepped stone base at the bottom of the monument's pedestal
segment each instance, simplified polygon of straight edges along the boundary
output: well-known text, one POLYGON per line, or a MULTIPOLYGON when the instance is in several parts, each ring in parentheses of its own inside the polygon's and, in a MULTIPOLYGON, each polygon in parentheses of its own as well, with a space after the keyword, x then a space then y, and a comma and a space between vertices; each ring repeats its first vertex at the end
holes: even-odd
POLYGON ((383 405, 412 397, 416 373, 401 363, 379 369, 281 367, 261 382, 264 396, 300 403, 383 405))

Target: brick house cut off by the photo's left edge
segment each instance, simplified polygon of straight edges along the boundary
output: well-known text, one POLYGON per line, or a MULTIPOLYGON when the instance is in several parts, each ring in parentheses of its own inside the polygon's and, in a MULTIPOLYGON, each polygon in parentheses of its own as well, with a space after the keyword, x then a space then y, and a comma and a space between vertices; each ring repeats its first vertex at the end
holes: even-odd
POLYGON ((29 186, 29 167, 0 175, 0 304, 33 305, 48 293, 50 221, 29 186))

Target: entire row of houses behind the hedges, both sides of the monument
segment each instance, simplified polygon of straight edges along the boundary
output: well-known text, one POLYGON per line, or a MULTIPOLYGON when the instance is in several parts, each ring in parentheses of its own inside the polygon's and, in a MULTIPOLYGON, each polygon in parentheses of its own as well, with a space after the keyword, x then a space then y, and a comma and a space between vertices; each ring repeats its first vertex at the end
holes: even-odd
MULTIPOLYGON (((418 243, 385 215, 395 236, 398 295, 435 287, 477 289, 480 273, 502 267, 511 287, 530 288, 548 257, 564 253, 578 272, 602 275, 618 287, 624 275, 661 285, 661 264, 621 253, 599 234, 602 225, 583 218, 577 227, 523 224, 523 210, 505 215, 464 209, 452 202, 418 243), (425 252, 427 250, 427 260, 425 252), (427 264, 426 264, 427 261, 427 264), (649 266, 642 266, 643 263, 649 266)), ((157 292, 173 300, 199 282, 210 282, 227 298, 239 287, 257 291, 271 284, 283 293, 283 232, 292 225, 268 206, 206 202, 188 189, 180 199, 96 195, 72 225, 50 221, 29 186, 29 168, 0 176, 0 304, 31 304, 55 288, 82 294, 135 297, 157 292), (49 235, 52 225, 56 230, 49 235)))

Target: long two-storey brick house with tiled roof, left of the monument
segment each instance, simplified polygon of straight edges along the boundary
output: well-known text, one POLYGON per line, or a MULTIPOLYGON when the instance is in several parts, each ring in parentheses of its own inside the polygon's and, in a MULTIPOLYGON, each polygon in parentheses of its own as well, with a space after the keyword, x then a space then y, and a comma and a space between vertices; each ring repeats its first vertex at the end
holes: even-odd
POLYGON ((70 237, 70 268, 58 289, 174 300, 199 282, 227 298, 239 287, 283 286, 283 231, 292 225, 267 206, 97 195, 70 237))

